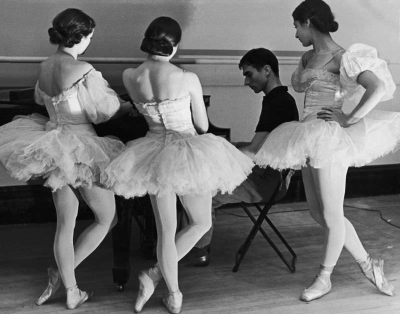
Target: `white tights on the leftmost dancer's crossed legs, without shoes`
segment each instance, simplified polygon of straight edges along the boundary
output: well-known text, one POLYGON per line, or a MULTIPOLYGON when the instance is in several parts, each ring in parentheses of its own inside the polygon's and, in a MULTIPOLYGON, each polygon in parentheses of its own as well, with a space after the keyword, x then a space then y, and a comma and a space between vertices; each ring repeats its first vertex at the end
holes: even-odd
POLYGON ((73 245, 73 230, 78 212, 76 189, 63 186, 52 193, 57 213, 54 236, 54 257, 65 288, 76 285, 74 269, 103 240, 116 223, 114 194, 107 189, 92 185, 79 187, 83 200, 94 214, 94 222, 87 226, 73 245))

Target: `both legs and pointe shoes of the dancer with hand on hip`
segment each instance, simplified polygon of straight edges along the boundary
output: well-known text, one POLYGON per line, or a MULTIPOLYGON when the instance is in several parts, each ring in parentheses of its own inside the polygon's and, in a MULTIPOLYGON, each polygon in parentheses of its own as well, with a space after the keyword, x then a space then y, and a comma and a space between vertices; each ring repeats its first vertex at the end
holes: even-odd
POLYGON ((343 216, 345 173, 344 167, 326 169, 304 167, 302 169, 311 216, 325 228, 321 269, 313 283, 303 291, 302 300, 317 298, 330 290, 329 271, 331 272, 330 268, 333 268, 340 255, 342 236, 337 232, 341 232, 342 223, 344 224, 344 246, 357 261, 362 273, 380 292, 394 295, 394 288, 383 273, 383 260, 369 257, 353 225, 343 216), (329 201, 333 206, 329 205, 329 201), (337 206, 337 204, 341 205, 337 206))

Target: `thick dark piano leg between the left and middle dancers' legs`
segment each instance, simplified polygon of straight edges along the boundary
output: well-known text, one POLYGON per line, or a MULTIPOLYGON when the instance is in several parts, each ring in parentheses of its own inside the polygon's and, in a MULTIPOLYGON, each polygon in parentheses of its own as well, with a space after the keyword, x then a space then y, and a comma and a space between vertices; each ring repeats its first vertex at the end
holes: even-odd
POLYGON ((112 278, 116 283, 117 290, 123 291, 123 286, 128 281, 130 274, 129 251, 133 200, 115 195, 115 204, 118 222, 112 228, 112 251, 114 255, 112 278))

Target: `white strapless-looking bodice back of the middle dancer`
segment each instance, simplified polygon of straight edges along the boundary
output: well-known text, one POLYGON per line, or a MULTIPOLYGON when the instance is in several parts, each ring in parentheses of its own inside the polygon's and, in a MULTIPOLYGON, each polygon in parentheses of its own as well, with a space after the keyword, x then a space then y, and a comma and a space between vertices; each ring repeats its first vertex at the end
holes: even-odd
POLYGON ((151 132, 162 134, 194 131, 189 94, 172 100, 138 102, 135 106, 143 114, 151 132))

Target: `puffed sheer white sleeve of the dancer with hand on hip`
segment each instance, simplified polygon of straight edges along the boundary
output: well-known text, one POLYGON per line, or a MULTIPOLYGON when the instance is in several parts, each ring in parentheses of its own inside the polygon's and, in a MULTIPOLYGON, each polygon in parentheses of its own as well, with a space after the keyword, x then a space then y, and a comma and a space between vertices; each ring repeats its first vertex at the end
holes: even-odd
POLYGON ((383 81, 386 93, 381 101, 391 99, 396 85, 387 68, 387 63, 378 58, 375 48, 363 43, 352 44, 341 58, 340 84, 346 93, 346 98, 358 102, 362 97, 365 88, 357 83, 357 76, 365 70, 370 70, 383 81))

